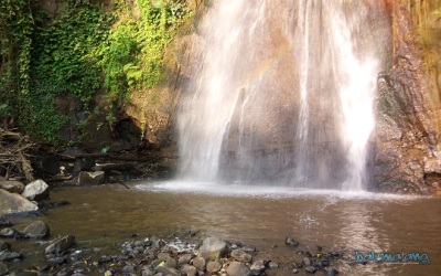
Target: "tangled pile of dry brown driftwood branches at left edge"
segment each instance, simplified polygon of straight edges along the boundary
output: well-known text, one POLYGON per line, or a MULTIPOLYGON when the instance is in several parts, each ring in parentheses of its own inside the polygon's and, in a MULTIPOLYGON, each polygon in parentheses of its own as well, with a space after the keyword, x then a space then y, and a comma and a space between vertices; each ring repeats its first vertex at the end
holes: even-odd
POLYGON ((29 152, 33 149, 35 145, 28 136, 0 128, 0 169, 3 170, 3 177, 34 180, 29 159, 29 152))

